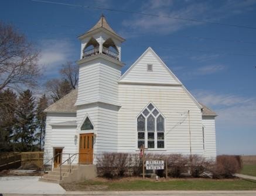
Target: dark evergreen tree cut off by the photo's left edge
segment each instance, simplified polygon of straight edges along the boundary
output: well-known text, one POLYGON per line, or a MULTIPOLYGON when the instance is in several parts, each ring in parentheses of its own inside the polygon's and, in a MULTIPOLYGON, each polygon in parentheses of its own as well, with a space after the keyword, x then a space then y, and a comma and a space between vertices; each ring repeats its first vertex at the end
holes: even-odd
POLYGON ((0 92, 0 152, 12 151, 15 125, 16 94, 10 89, 0 92))

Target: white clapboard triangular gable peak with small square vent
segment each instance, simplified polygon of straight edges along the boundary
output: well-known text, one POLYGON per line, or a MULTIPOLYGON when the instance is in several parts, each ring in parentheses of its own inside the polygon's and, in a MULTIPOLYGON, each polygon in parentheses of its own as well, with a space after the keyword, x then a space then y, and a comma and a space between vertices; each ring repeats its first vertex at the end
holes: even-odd
POLYGON ((166 83, 180 84, 162 64, 159 57, 148 48, 144 54, 122 76, 120 82, 166 83), (152 64, 153 71, 148 71, 148 64, 152 64))

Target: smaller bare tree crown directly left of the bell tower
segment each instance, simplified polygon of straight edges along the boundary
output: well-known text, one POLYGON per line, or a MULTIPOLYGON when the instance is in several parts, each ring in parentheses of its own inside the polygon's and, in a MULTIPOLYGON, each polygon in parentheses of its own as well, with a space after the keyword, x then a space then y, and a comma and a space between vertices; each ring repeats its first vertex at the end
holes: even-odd
POLYGON ((69 81, 73 89, 76 89, 77 86, 78 72, 78 65, 73 64, 70 61, 66 62, 66 64, 63 64, 62 69, 60 69, 60 75, 62 75, 64 79, 69 81))

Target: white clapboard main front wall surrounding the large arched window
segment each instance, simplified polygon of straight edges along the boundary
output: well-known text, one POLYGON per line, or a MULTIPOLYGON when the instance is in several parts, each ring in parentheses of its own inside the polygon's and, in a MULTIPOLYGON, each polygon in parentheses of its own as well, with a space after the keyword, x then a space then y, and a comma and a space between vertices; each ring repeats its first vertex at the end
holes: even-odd
POLYGON ((182 86, 119 85, 118 152, 136 152, 136 117, 149 102, 165 117, 165 150, 158 153, 190 153, 189 117, 192 153, 203 155, 202 114, 182 86), (159 97, 166 97, 160 99, 159 97), (179 99, 175 99, 179 97, 179 99), (186 103, 183 102, 186 100, 186 103))

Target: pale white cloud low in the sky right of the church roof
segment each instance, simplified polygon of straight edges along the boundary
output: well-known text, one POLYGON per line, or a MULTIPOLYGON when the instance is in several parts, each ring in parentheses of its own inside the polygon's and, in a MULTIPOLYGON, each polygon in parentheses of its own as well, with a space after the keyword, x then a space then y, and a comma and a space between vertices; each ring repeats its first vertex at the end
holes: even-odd
POLYGON ((219 115, 217 122, 225 127, 250 127, 256 125, 256 99, 232 94, 218 94, 194 90, 197 100, 212 108, 219 115))

